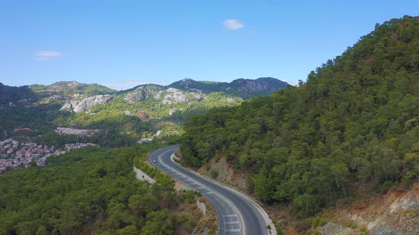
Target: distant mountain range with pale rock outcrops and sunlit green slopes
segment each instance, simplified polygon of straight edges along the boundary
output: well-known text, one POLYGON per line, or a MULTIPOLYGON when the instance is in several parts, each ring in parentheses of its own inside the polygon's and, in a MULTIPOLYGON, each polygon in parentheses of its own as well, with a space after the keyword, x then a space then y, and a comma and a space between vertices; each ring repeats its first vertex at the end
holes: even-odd
MULTIPOLYGON (((28 127, 47 134, 55 127, 79 127, 123 133, 129 138, 180 134, 187 118, 211 108, 239 105, 284 88, 272 78, 237 79, 231 83, 183 79, 170 86, 144 84, 116 91, 99 84, 59 81, 50 85, 0 84, 0 132, 28 127)), ((25 133, 23 133, 25 134, 25 133)), ((97 143, 110 146, 116 135, 97 143)))

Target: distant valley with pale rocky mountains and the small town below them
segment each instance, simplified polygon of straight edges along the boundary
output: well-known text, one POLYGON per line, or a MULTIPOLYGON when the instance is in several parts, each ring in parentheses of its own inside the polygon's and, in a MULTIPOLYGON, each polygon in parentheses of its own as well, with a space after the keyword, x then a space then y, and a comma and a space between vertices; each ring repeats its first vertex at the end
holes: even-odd
POLYGON ((167 87, 146 84, 126 91, 77 81, 20 88, 0 84, 0 129, 5 139, 9 133, 15 139, 26 139, 23 145, 57 149, 56 153, 48 150, 47 155, 25 149, 28 156, 22 159, 24 154, 17 146, 8 146, 1 152, 1 171, 30 166, 33 158, 34 164, 43 164, 45 157, 64 152, 66 146, 122 147, 153 139, 164 141, 179 136, 191 115, 239 105, 244 101, 240 96, 259 96, 285 86, 272 78, 241 79, 231 84, 183 79, 167 87))

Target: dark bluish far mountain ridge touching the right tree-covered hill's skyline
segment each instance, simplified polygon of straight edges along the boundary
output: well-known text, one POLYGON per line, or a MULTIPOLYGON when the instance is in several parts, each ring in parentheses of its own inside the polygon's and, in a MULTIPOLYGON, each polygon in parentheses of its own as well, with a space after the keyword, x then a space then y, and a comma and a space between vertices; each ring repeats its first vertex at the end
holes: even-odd
POLYGON ((256 96, 266 96, 286 88, 289 84, 271 77, 259 79, 236 79, 230 83, 214 81, 195 81, 183 79, 175 81, 168 87, 198 93, 224 92, 241 98, 254 98, 256 96))

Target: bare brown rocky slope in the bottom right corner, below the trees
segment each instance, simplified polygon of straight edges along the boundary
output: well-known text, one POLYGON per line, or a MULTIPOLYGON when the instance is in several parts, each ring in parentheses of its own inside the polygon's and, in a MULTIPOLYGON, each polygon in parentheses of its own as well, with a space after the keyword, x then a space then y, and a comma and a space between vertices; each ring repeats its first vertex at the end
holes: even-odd
POLYGON ((419 234, 419 183, 409 190, 389 190, 364 202, 337 206, 325 214, 335 219, 319 229, 321 234, 419 234))

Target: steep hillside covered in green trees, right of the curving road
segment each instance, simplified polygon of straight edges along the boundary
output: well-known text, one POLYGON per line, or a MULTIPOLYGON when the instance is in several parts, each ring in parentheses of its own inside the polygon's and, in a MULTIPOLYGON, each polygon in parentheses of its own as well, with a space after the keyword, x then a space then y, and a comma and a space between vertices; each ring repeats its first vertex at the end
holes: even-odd
POLYGON ((185 123, 186 164, 227 156, 265 202, 313 214, 419 179, 419 18, 392 19, 299 87, 185 123))

